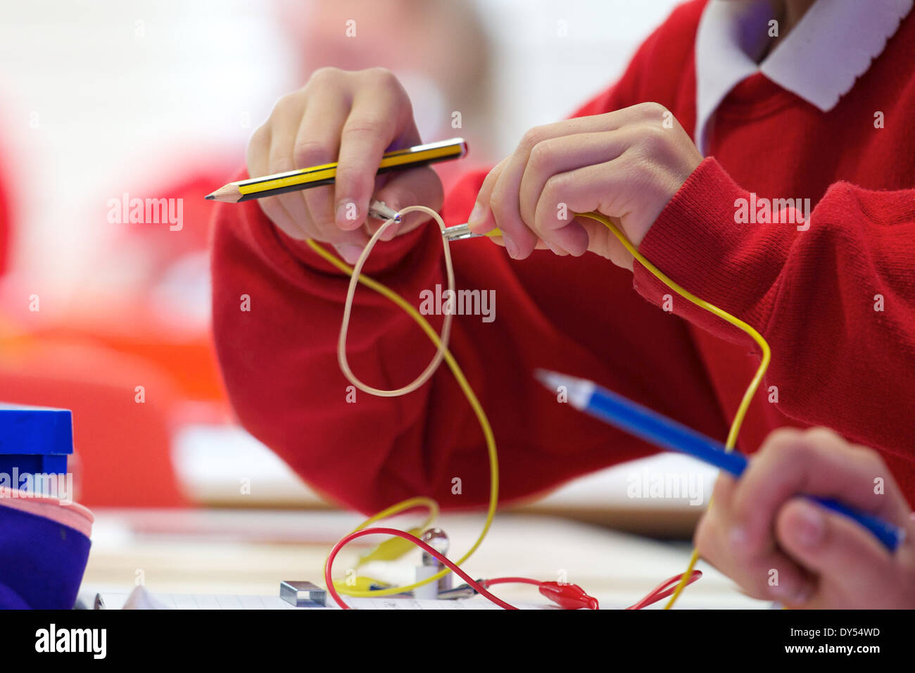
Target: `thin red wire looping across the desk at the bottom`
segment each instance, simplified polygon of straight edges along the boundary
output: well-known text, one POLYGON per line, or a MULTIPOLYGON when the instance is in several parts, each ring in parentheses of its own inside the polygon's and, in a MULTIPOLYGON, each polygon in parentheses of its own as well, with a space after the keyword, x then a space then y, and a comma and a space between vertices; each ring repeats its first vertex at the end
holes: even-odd
MULTIPOLYGON (((334 587, 334 582, 331 579, 331 569, 334 565, 334 559, 337 557, 339 550, 346 545, 348 545, 352 540, 357 537, 364 537, 367 535, 393 535, 397 537, 403 537, 405 540, 412 542, 416 547, 423 549, 424 551, 432 554, 436 559, 441 561, 447 568, 454 572, 458 577, 463 581, 466 581, 469 586, 471 586, 479 595, 489 599, 491 602, 496 603, 501 608, 505 610, 517 610, 514 605, 504 602, 498 596, 493 595, 487 591, 487 587, 492 586, 493 584, 533 584, 535 586, 541 586, 544 582, 540 580, 533 580, 529 577, 497 577, 493 580, 484 580, 482 583, 474 580, 470 577, 464 570, 461 570, 454 561, 448 559, 444 554, 438 551, 436 548, 432 548, 427 545, 423 540, 409 533, 398 530, 397 528, 363 528, 362 530, 357 530, 354 533, 350 533, 347 537, 343 537, 339 542, 334 545, 334 548, 330 550, 328 555, 328 563, 324 569, 324 581, 328 586, 328 593, 330 593, 331 598, 337 602, 337 604, 344 610, 350 610, 350 606, 343 601, 337 592, 337 588, 334 587)), ((658 602, 663 598, 670 596, 676 589, 676 585, 680 582, 683 575, 674 575, 669 580, 662 581, 661 584, 656 586, 651 592, 645 596, 640 602, 637 602, 633 605, 630 605, 627 610, 641 610, 642 608, 648 607, 652 603, 658 602)), ((702 570, 693 570, 693 575, 690 577, 689 581, 686 582, 686 586, 689 586, 694 581, 702 577, 702 570)))

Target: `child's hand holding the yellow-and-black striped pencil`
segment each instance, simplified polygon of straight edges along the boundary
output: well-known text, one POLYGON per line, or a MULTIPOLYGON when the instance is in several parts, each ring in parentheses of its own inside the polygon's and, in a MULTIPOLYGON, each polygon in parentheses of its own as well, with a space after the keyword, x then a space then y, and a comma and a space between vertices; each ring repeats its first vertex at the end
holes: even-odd
MULTIPOLYGON (((395 210, 416 203, 431 208, 441 204, 442 185, 432 168, 376 175, 389 147, 420 142, 410 99, 390 71, 322 68, 305 87, 283 96, 254 132, 248 146, 248 174, 256 178, 338 161, 333 187, 292 191, 257 202, 286 234, 333 244, 352 264, 369 240, 364 225, 372 193, 395 210)), ((407 216, 400 232, 398 225, 392 225, 385 239, 414 229, 424 217, 407 216)))

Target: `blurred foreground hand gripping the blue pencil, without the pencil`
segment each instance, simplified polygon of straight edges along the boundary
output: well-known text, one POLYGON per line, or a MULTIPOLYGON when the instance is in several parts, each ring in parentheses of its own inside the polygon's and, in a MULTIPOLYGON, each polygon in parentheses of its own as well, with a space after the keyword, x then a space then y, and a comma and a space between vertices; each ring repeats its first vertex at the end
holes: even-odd
POLYGON ((828 429, 780 429, 738 481, 718 477, 695 547, 755 598, 795 608, 915 608, 910 514, 876 451, 828 429), (863 526, 799 494, 834 498, 908 535, 890 553, 863 526))

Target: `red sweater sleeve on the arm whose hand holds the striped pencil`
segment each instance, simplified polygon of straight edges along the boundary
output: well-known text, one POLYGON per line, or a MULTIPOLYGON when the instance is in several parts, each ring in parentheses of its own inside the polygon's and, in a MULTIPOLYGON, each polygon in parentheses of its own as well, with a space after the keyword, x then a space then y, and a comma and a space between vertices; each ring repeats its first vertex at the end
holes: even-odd
MULTIPOLYGON (((690 39, 684 35, 684 49, 690 39)), ((638 103, 640 60, 656 43, 650 38, 617 86, 578 114, 638 103)), ((452 190, 442 211, 446 223, 466 222, 484 177, 468 175, 452 190)), ((421 289, 444 282, 441 246, 436 227, 426 225, 379 244, 365 273, 416 303, 421 289)), ((459 316, 451 350, 490 416, 501 500, 651 452, 557 404, 533 382, 536 366, 592 375, 708 434, 723 434, 684 323, 672 323, 632 292, 628 272, 595 255, 538 252, 516 263, 487 241, 455 244, 452 255, 459 288, 496 292, 496 320, 459 316)), ((212 270, 215 342, 232 406, 245 428, 307 483, 363 512, 424 494, 450 508, 487 502, 482 433, 445 365, 409 396, 348 395, 336 357, 347 277, 285 237, 253 202, 217 206, 212 270)), ((439 317, 429 319, 440 326, 439 317)), ((377 387, 412 380, 434 350, 403 311, 364 288, 349 334, 350 366, 377 387)))

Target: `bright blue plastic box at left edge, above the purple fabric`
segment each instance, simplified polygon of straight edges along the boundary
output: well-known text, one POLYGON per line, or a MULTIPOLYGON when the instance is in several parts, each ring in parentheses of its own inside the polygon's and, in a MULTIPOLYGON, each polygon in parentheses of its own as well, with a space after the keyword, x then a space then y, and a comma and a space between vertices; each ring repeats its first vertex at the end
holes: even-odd
POLYGON ((63 474, 72 452, 70 409, 0 403, 0 472, 63 474))

